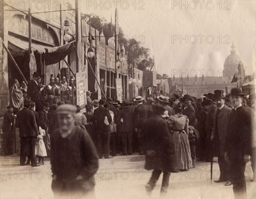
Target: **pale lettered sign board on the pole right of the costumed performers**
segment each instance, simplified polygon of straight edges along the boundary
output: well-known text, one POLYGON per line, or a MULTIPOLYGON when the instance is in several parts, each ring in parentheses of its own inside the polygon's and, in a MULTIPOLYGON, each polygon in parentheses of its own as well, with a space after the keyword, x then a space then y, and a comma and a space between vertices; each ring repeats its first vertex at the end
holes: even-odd
POLYGON ((86 78, 85 73, 80 72, 76 73, 76 104, 79 105, 81 108, 86 105, 86 78))

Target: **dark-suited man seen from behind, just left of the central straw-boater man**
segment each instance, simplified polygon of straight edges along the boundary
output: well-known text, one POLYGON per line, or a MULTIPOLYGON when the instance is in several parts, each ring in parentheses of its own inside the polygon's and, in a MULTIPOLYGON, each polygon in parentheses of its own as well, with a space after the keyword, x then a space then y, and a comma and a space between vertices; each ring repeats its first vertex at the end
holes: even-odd
POLYGON ((119 111, 117 121, 120 122, 120 132, 122 137, 122 154, 132 154, 132 133, 134 111, 131 109, 130 101, 124 100, 124 108, 119 111))

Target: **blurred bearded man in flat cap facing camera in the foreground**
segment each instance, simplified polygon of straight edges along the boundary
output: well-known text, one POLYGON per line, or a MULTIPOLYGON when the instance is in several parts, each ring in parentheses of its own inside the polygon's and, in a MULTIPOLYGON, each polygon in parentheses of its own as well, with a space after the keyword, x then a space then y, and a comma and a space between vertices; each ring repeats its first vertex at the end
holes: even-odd
POLYGON ((90 135, 76 128, 76 110, 69 104, 57 108, 60 128, 55 130, 51 145, 55 198, 94 198, 98 155, 90 135))

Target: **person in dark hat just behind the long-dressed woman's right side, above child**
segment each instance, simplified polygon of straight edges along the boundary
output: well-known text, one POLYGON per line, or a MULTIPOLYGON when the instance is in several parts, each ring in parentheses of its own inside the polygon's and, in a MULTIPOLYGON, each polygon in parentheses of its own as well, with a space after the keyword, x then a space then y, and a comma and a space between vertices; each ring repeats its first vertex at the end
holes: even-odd
POLYGON ((184 95, 184 106, 182 114, 189 118, 189 125, 195 126, 195 108, 191 105, 192 97, 190 95, 184 95))

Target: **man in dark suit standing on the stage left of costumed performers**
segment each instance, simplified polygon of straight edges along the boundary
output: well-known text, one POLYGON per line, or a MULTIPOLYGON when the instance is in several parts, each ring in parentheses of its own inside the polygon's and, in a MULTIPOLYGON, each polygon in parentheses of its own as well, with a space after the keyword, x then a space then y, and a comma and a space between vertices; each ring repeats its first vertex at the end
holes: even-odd
POLYGON ((38 85, 37 79, 39 77, 39 74, 37 72, 34 72, 32 76, 32 80, 28 82, 28 90, 27 90, 27 98, 31 99, 33 102, 35 102, 35 111, 41 111, 43 109, 42 103, 42 97, 41 97, 41 91, 40 86, 38 85))

